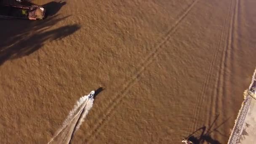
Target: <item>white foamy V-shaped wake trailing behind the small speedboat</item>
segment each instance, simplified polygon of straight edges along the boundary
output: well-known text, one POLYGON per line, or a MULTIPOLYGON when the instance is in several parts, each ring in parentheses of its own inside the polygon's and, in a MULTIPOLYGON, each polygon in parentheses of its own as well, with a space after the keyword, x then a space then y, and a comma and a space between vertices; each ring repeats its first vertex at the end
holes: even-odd
MULTIPOLYGON (((86 115, 93 106, 94 99, 88 99, 88 95, 81 97, 74 108, 69 112, 68 117, 64 120, 61 128, 56 132, 53 138, 48 142, 50 144, 56 137, 60 135, 60 140, 67 139, 67 143, 71 140, 72 135, 80 128, 86 115), (65 129, 66 128, 66 129, 65 129), (63 133, 63 134, 60 134, 63 133)), ((59 142, 57 142, 59 144, 59 142)), ((62 143, 62 142, 61 142, 62 143)))

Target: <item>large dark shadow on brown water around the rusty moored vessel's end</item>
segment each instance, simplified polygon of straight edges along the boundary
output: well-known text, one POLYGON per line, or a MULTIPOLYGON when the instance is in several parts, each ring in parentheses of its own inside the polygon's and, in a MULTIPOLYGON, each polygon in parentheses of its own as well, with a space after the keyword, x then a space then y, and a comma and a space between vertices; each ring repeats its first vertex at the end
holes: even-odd
POLYGON ((69 17, 60 17, 56 14, 65 4, 45 4, 44 6, 48 7, 48 17, 44 20, 0 19, 0 65, 9 59, 20 58, 37 51, 46 41, 59 40, 80 29, 77 24, 52 29, 59 21, 69 17))

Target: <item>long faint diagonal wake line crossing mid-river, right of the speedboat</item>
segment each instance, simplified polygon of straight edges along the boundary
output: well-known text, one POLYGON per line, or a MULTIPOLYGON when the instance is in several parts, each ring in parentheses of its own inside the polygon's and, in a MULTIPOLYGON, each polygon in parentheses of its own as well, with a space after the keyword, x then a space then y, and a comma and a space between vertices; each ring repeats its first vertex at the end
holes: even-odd
MULTIPOLYGON (((146 59, 142 62, 142 64, 139 65, 139 70, 136 71, 135 74, 133 74, 132 78, 125 83, 124 88, 122 91, 120 91, 120 93, 117 93, 116 96, 114 96, 114 98, 110 101, 110 104, 107 104, 107 110, 104 112, 104 114, 102 116, 100 116, 98 118, 98 122, 94 123, 94 127, 92 130, 92 133, 89 133, 88 136, 86 137, 86 139, 88 138, 92 138, 92 135, 98 133, 101 125, 104 123, 104 121, 106 120, 106 118, 111 115, 112 111, 115 109, 115 107, 117 107, 118 104, 120 104, 121 100, 123 99, 123 97, 125 96, 125 93, 134 85, 134 83, 137 80, 137 77, 144 71, 144 69, 153 62, 153 59, 157 56, 158 51, 160 50, 160 48, 162 47, 162 45, 164 45, 166 43, 166 41, 168 41, 168 39, 170 39, 171 35, 176 31, 177 27, 179 26, 179 24, 181 23, 181 21, 187 16, 187 14, 189 13, 189 11, 191 11, 191 9, 195 6, 195 4, 198 2, 199 0, 195 0, 191 5, 189 5, 189 7, 184 11, 184 13, 175 21, 175 23, 173 24, 173 27, 171 27, 171 29, 168 30, 167 34, 165 35, 165 37, 163 38, 163 40, 160 41, 160 43, 158 43, 157 46, 155 46, 155 49, 153 49, 151 51, 151 53, 149 53, 146 57, 146 59)), ((93 138, 95 138, 95 136, 93 136, 93 138)), ((93 139, 91 139, 93 140, 93 139)))

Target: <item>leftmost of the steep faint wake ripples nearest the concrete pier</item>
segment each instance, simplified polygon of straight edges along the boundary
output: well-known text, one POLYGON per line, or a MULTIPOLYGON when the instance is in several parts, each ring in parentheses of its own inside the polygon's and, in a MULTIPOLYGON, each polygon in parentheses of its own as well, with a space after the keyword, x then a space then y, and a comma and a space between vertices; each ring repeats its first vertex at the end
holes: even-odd
MULTIPOLYGON (((213 56, 211 58, 211 61, 210 61, 210 66, 208 67, 208 71, 207 71, 207 74, 206 74, 206 77, 205 77, 205 80, 204 80, 204 83, 202 85, 202 88, 200 88, 200 96, 198 97, 198 99, 196 100, 196 105, 194 107, 194 110, 192 112, 192 114, 194 115, 194 118, 193 120, 195 120, 198 115, 199 115, 199 112, 200 112, 200 107, 202 106, 202 103, 205 99, 205 92, 208 88, 208 83, 209 81, 211 80, 211 75, 213 73, 213 67, 214 65, 216 64, 216 60, 218 58, 218 53, 219 51, 221 50, 221 45, 222 45, 222 39, 223 37, 225 37, 225 35, 227 35, 227 20, 229 18, 229 15, 231 13, 231 7, 232 7, 232 2, 230 3, 229 5, 229 9, 228 9, 228 12, 227 12, 227 15, 226 15, 226 18, 224 19, 224 24, 223 24, 223 27, 221 29, 221 34, 220 34, 220 39, 218 41, 218 45, 217 45, 217 48, 216 50, 214 51, 213 53, 213 56)), ((215 96, 213 96, 215 97, 215 96)), ((211 97, 211 98, 213 98, 211 97)), ((213 102, 213 101, 211 101, 213 102)), ((193 123, 193 125, 191 126, 193 128, 193 130, 197 127, 197 121, 195 121, 195 123, 193 123)), ((190 127, 190 128, 191 128, 190 127)), ((190 129, 189 129, 190 130, 190 129)))

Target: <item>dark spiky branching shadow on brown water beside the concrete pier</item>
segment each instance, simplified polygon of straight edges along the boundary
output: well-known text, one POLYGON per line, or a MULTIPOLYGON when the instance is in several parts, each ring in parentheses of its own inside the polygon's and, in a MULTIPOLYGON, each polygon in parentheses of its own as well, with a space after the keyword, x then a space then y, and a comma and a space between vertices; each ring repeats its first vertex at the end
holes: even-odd
POLYGON ((208 144, 221 144, 218 140, 213 139, 211 137, 211 133, 212 132, 217 132, 219 133, 221 136, 224 137, 229 137, 227 135, 224 135, 223 133, 220 133, 218 131, 218 128, 223 125, 224 123, 227 122, 227 120, 229 120, 229 118, 227 120, 225 120, 223 123, 221 123, 220 125, 218 125, 216 128, 212 129, 213 124, 216 122, 216 120, 218 119, 219 115, 215 118, 215 120, 213 121, 213 123, 211 124, 211 126, 208 128, 208 131, 206 131, 206 126, 204 125, 201 128, 198 128, 196 131, 194 131, 193 133, 191 133, 189 136, 187 136, 187 140, 193 142, 193 144, 204 144, 205 142, 207 142, 208 144), (200 133, 200 135, 196 135, 195 133, 202 131, 202 133, 200 133))

